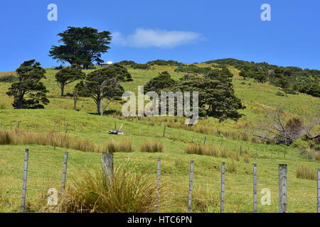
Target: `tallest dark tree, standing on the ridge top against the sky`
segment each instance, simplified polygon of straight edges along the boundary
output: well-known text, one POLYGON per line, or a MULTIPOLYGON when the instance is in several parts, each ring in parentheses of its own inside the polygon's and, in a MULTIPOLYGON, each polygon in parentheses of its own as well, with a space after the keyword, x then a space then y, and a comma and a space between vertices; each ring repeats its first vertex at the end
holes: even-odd
POLYGON ((53 45, 50 57, 58 62, 69 62, 70 65, 78 64, 87 69, 92 62, 101 63, 101 54, 110 49, 112 36, 109 31, 98 32, 94 28, 68 27, 68 30, 58 34, 59 43, 53 45))

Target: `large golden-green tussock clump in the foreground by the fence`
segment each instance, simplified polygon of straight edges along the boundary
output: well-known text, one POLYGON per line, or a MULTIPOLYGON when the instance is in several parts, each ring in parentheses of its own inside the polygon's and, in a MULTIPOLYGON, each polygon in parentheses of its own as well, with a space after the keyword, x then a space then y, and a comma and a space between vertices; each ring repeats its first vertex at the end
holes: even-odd
POLYGON ((102 172, 87 170, 75 179, 58 204, 65 213, 149 213, 159 199, 156 182, 124 167, 106 180, 102 172))

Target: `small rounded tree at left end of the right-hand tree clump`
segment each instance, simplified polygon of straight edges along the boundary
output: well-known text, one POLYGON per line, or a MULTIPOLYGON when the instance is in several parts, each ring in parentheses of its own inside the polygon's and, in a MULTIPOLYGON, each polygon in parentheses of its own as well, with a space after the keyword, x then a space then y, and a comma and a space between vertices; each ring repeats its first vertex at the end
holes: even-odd
POLYGON ((159 93, 161 90, 168 87, 173 87, 176 81, 171 78, 169 72, 161 72, 159 76, 154 77, 144 85, 144 92, 156 92, 159 93))

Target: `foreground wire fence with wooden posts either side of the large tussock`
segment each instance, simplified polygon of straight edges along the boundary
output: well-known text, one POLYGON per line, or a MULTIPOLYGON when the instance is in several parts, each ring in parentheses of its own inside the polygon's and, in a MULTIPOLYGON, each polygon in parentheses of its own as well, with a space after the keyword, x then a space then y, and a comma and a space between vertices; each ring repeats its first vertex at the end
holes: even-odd
MULTIPOLYGON (((68 153, 26 150, 12 162, 9 156, 1 157, 6 162, 0 165, 0 212, 48 212, 43 210, 48 205, 54 209, 70 179, 84 169, 101 170, 102 166, 105 175, 112 176, 113 154, 104 153, 102 159, 100 155, 75 159, 68 153)), ((262 173, 254 164, 251 171, 235 174, 223 162, 213 168, 212 175, 203 175, 203 165, 191 161, 179 163, 184 167, 175 175, 163 161, 154 162, 158 212, 320 212, 320 170, 317 180, 306 185, 288 177, 288 165, 270 165, 270 171, 262 173), (160 193, 162 186, 169 190, 160 193)))

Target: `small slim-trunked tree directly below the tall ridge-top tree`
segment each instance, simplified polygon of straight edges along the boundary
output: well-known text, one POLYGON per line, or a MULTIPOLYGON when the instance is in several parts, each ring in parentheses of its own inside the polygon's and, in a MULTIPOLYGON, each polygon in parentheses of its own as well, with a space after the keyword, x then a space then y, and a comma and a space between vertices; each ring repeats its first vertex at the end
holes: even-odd
POLYGON ((66 67, 55 74, 55 79, 61 89, 61 96, 64 96, 65 85, 75 82, 78 79, 85 79, 85 73, 76 68, 66 67))

